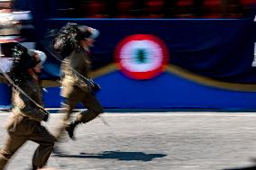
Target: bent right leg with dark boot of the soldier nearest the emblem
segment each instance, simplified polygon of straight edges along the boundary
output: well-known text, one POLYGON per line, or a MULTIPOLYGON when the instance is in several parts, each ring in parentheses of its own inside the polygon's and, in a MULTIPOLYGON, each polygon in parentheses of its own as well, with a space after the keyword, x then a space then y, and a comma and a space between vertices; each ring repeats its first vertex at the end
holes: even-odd
POLYGON ((94 94, 85 94, 81 100, 87 107, 87 111, 80 112, 75 121, 72 121, 66 130, 69 132, 69 137, 73 139, 74 130, 79 123, 87 123, 94 120, 100 113, 103 113, 103 107, 101 103, 96 99, 94 94))

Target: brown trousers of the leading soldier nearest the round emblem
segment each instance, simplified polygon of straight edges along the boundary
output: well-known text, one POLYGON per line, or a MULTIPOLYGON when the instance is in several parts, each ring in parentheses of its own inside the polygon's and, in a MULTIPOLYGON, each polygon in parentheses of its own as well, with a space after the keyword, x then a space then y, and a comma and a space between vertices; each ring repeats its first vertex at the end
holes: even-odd
POLYGON ((78 113, 76 121, 80 123, 86 123, 94 120, 100 113, 103 113, 103 107, 101 103, 96 99, 95 94, 83 93, 83 91, 75 91, 69 98, 65 98, 62 103, 62 112, 65 112, 63 122, 61 123, 59 130, 57 131, 56 138, 59 139, 67 126, 67 121, 71 116, 71 113, 75 109, 78 103, 82 103, 87 111, 78 113))

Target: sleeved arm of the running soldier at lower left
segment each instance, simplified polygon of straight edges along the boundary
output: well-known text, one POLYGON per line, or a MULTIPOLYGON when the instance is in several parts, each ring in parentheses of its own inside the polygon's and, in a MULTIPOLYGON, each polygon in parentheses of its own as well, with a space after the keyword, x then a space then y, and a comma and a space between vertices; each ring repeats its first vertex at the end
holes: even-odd
MULTIPOLYGON (((25 91, 25 89, 23 90, 25 91)), ((24 116, 28 116, 33 120, 44 120, 46 114, 42 112, 40 109, 32 107, 32 105, 34 104, 32 104, 28 97, 21 93, 17 93, 17 95, 18 96, 14 96, 14 110, 19 110, 18 112, 21 112, 24 116)))

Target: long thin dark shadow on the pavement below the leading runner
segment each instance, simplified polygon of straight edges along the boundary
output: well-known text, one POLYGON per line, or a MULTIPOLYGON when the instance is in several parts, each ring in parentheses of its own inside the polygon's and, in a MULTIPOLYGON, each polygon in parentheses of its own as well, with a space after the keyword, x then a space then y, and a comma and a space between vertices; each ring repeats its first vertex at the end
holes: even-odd
POLYGON ((56 155, 54 157, 77 157, 77 158, 98 158, 98 159, 117 159, 123 161, 151 161, 154 158, 166 157, 165 154, 145 154, 143 152, 121 152, 104 151, 99 154, 80 153, 80 155, 56 155))

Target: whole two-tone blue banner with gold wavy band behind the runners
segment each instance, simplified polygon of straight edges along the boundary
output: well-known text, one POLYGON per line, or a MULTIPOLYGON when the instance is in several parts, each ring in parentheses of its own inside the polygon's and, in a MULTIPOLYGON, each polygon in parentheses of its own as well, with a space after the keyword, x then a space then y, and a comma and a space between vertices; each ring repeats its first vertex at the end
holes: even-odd
MULTIPOLYGON (((101 32, 92 49, 92 76, 102 86, 97 95, 105 108, 256 109, 256 69, 251 67, 256 25, 251 20, 56 18, 47 20, 44 32, 67 22, 101 32), (134 34, 151 34, 167 46, 169 64, 159 76, 134 80, 114 65, 117 44, 134 34)), ((43 36, 41 49, 47 51, 43 36)), ((58 76, 59 61, 50 57, 43 78, 58 76)), ((59 107, 59 87, 48 91, 46 107, 59 107)))

